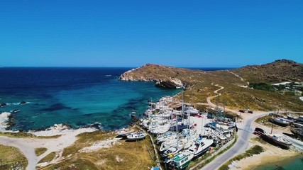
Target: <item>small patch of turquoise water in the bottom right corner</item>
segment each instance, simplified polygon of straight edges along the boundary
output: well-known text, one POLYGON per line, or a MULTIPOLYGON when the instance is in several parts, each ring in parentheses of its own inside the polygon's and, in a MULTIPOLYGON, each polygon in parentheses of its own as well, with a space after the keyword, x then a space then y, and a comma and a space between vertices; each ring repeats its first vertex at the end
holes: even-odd
POLYGON ((292 157, 284 159, 280 162, 274 162, 257 166, 254 170, 302 170, 303 169, 303 156, 292 157))

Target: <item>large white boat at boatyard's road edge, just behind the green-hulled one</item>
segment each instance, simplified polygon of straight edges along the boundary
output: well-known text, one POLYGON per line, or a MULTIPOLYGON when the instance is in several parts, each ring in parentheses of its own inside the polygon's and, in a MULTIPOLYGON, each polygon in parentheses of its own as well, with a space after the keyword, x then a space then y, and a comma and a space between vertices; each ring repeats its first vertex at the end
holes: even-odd
POLYGON ((189 152, 194 154, 194 157, 200 157, 203 154, 205 154, 209 147, 214 143, 214 140, 208 140, 208 139, 202 139, 202 140, 196 140, 194 145, 192 147, 189 147, 189 152))

